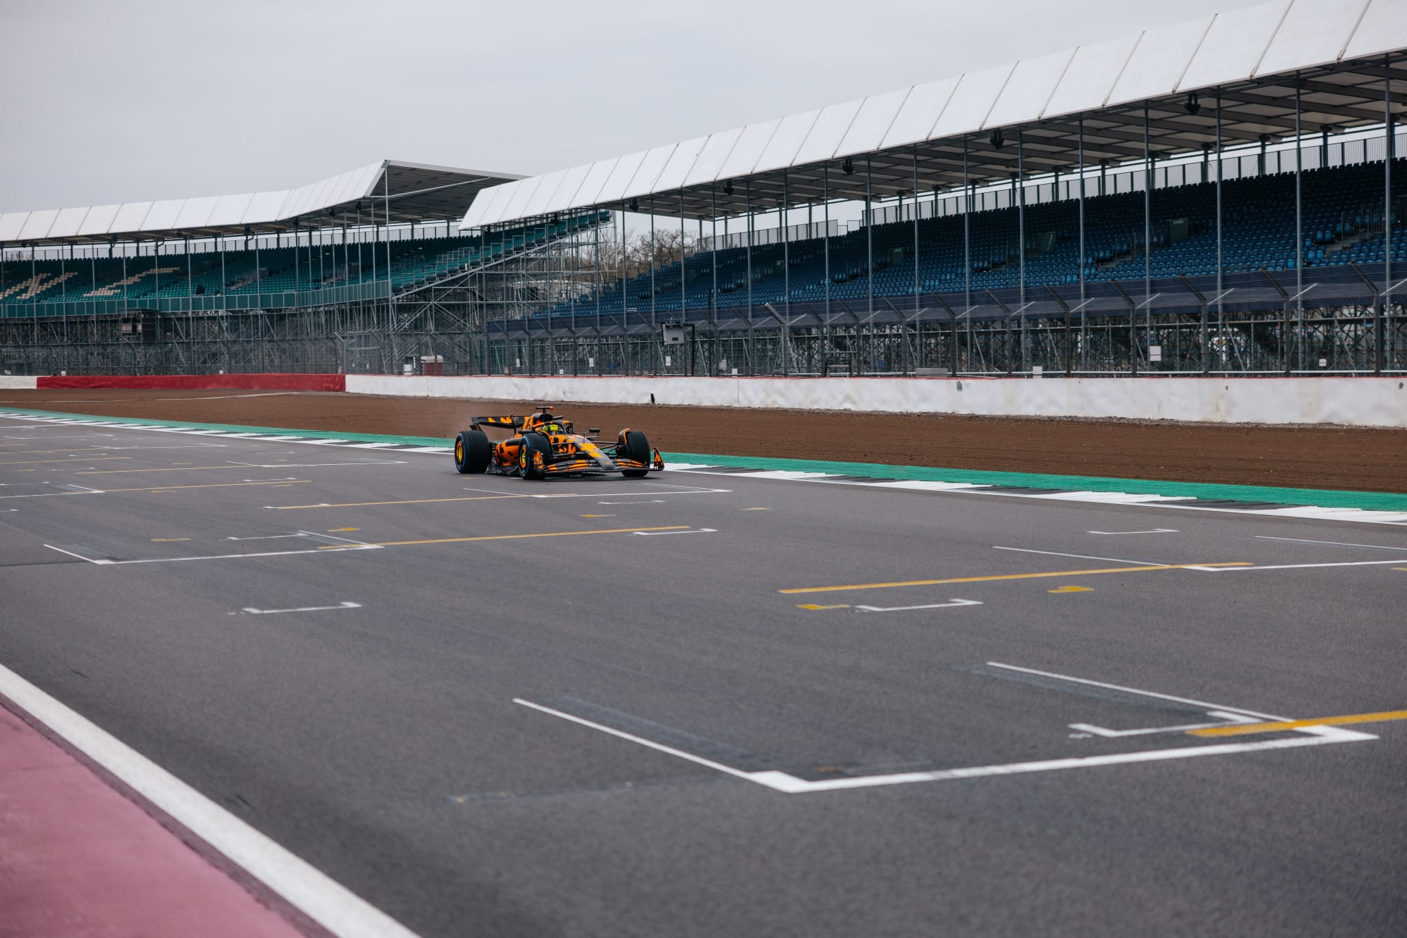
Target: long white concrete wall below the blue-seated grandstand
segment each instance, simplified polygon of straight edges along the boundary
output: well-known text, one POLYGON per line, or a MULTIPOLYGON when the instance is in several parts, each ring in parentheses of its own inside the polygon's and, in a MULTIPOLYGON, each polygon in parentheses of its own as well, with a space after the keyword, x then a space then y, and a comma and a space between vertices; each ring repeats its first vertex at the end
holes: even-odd
POLYGON ((478 401, 1407 428, 1403 378, 674 378, 348 375, 348 391, 478 401))

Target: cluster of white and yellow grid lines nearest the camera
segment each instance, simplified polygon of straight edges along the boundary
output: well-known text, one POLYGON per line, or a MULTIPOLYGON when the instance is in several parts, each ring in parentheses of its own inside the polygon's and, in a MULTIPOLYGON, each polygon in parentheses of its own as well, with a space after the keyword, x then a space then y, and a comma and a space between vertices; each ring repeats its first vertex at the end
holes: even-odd
MULTIPOLYGON (((704 765, 716 772, 725 775, 732 775, 733 778, 743 779, 746 782, 753 782, 754 785, 761 785, 763 788, 779 792, 782 795, 809 795, 816 792, 837 792, 848 789, 861 788, 882 788, 893 785, 913 785, 919 782, 946 782, 957 779, 976 779, 976 778, 995 778, 1003 775, 1026 775, 1034 772, 1055 772, 1061 769, 1085 769, 1085 768, 1102 768, 1109 765, 1130 765, 1134 762, 1165 762, 1172 759, 1189 759, 1199 758, 1204 755, 1234 755, 1244 752, 1258 752, 1269 750, 1292 750, 1292 748, 1306 748, 1313 745, 1331 745, 1335 743, 1362 743, 1369 740, 1376 740, 1379 737, 1370 733, 1362 733, 1359 730, 1344 730, 1339 728, 1345 723, 1382 723, 1389 720, 1407 719, 1407 710, 1393 710, 1383 713, 1368 713, 1345 717, 1324 717, 1320 720, 1285 720, 1283 717, 1271 717, 1271 714, 1258 713, 1255 710, 1247 710, 1242 707, 1228 707, 1214 703, 1206 703, 1203 700, 1190 700, 1186 698, 1176 698, 1166 693, 1157 693, 1152 690, 1140 690, 1135 688, 1127 688, 1123 685, 1104 683, 1102 681, 1089 681, 1085 678, 1074 678, 1069 675, 1055 674, 1050 671, 1037 671, 1034 668, 1023 668, 1019 665, 1007 665, 996 661, 986 662, 988 668, 998 668, 1002 671, 1037 675, 1040 678, 1051 679, 1055 682, 1068 682, 1071 685, 1088 685, 1103 688, 1109 690, 1116 690, 1120 693, 1128 693, 1142 698, 1151 698, 1158 700, 1172 700, 1178 703, 1185 703, 1190 706, 1200 707, 1206 712, 1209 721, 1192 723, 1180 726, 1162 726, 1162 727, 1140 727, 1134 730, 1107 730, 1104 727, 1096 727, 1086 723, 1072 723, 1069 728, 1079 730, 1081 733, 1072 738, 1120 738, 1120 737, 1147 737, 1155 734, 1183 734, 1193 738, 1197 737, 1220 737, 1220 735, 1244 735, 1244 734, 1272 734, 1275 738, 1259 740, 1255 743, 1218 743, 1218 744, 1199 744, 1199 745, 1182 745, 1172 748, 1154 748, 1154 750, 1135 750, 1131 752, 1109 752, 1100 755, 1078 755, 1065 757, 1054 759, 1034 759, 1027 762, 1003 762, 995 765, 971 765, 962 768, 951 769, 934 769, 923 772, 895 772, 884 775, 857 775, 848 778, 829 778, 829 779, 803 779, 775 768, 763 769, 743 769, 736 765, 729 765, 713 758, 706 758, 696 752, 689 752, 674 745, 667 745, 657 740, 639 735, 636 733, 628 733, 622 728, 599 723, 597 720, 588 720, 577 713, 570 713, 553 706, 546 706, 543 703, 536 703, 533 700, 525 700, 522 698, 514 698, 514 703, 519 706, 529 707, 539 713, 546 713, 568 723, 575 723, 608 735, 613 735, 636 745, 654 750, 657 752, 664 752, 666 755, 673 755, 675 758, 694 762, 696 765, 704 765), (1263 721, 1266 719, 1271 721, 1263 721)), ((699 737, 695 737, 699 738, 699 737)))

